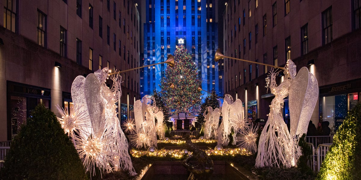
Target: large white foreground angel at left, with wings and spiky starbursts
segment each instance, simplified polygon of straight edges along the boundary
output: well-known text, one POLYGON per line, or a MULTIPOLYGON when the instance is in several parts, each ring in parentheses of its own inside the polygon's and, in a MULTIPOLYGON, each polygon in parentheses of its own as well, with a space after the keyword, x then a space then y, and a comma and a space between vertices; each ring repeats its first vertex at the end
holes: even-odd
POLYGON ((104 68, 86 78, 76 77, 71 86, 74 109, 66 114, 58 106, 62 116, 58 120, 69 132, 87 171, 95 175, 97 167, 106 172, 124 170, 136 175, 116 112, 121 76, 109 77, 108 72, 104 68), (113 81, 111 89, 105 84, 109 78, 113 81))

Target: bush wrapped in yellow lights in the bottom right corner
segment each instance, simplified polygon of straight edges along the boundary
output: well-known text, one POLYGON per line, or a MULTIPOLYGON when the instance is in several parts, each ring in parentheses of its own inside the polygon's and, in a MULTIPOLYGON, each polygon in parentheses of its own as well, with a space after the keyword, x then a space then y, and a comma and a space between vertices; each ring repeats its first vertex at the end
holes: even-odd
POLYGON ((339 127, 317 179, 361 179, 361 103, 339 127))

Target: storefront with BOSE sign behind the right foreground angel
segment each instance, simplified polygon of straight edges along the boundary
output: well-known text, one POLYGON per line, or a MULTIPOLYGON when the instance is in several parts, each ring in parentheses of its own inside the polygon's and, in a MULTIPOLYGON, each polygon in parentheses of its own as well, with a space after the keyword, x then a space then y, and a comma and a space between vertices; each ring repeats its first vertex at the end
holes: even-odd
POLYGON ((328 121, 336 132, 350 111, 360 101, 361 78, 319 88, 320 121, 328 121))

